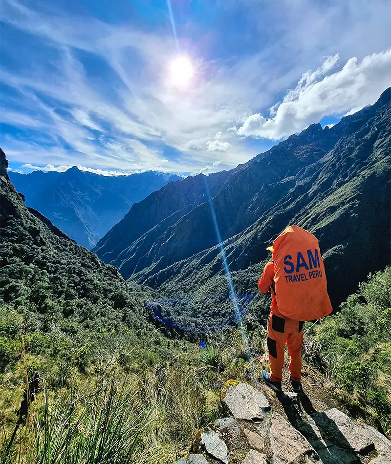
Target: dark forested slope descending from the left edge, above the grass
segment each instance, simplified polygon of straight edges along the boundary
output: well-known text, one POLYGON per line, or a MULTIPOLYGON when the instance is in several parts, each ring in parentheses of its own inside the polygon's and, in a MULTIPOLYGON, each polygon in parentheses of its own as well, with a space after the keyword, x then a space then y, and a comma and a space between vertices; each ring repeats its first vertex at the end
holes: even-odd
POLYGON ((31 330, 146 328, 148 289, 77 245, 40 212, 26 208, 0 149, 0 303, 24 314, 31 330))

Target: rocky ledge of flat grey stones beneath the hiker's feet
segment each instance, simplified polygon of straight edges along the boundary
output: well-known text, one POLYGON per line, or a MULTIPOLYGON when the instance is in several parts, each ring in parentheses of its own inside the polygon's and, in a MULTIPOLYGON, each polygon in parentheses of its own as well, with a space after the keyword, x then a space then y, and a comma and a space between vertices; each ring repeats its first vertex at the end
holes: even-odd
POLYGON ((258 381, 227 382, 224 417, 200 430, 177 464, 391 464, 385 435, 338 409, 315 372, 303 384, 306 393, 276 395, 258 381))

